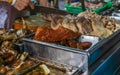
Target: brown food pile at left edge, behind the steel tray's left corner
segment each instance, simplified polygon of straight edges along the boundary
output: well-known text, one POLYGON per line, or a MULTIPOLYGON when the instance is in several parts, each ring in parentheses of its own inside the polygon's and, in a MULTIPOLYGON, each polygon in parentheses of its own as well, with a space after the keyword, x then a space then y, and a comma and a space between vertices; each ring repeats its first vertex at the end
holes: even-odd
POLYGON ((19 30, 9 29, 0 30, 0 41, 12 41, 13 43, 21 43, 23 37, 29 37, 34 35, 34 32, 28 30, 27 25, 23 24, 23 27, 19 30))

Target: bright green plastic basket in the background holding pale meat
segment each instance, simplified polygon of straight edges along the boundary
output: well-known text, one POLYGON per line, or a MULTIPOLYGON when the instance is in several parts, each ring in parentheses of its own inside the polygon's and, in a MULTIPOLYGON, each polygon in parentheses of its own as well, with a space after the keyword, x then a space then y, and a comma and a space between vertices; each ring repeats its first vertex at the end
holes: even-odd
MULTIPOLYGON (((107 9, 111 8, 112 5, 113 5, 112 2, 107 2, 107 3, 105 3, 102 7, 97 8, 97 9, 92 9, 92 10, 93 10, 93 12, 95 12, 95 13, 100 13, 100 12, 102 12, 102 11, 104 11, 104 10, 107 10, 107 9)), ((66 5, 65 5, 65 8, 66 8, 66 10, 67 10, 69 13, 72 13, 72 14, 79 14, 80 12, 83 12, 82 7, 78 7, 78 6, 73 7, 73 6, 71 6, 70 4, 66 4, 66 5)), ((88 8, 86 8, 86 10, 88 10, 88 8)))

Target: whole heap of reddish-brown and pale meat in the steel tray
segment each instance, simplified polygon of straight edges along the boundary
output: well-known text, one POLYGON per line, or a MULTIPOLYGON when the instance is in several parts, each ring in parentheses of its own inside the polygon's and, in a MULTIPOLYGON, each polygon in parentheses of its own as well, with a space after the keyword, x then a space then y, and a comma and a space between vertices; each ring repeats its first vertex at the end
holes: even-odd
POLYGON ((34 39, 85 50, 92 43, 89 41, 79 42, 78 37, 81 35, 107 38, 118 29, 120 29, 120 24, 114 19, 97 15, 88 10, 77 16, 54 17, 51 27, 39 27, 34 39))

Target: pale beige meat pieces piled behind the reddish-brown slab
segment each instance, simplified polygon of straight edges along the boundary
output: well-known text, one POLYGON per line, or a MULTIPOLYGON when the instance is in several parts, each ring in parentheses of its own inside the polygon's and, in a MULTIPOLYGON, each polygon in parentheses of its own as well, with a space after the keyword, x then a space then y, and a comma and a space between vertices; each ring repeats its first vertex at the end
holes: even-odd
POLYGON ((87 10, 74 15, 66 15, 64 18, 55 17, 51 22, 53 30, 60 26, 83 35, 92 35, 98 37, 109 37, 113 32, 120 29, 120 24, 114 19, 106 16, 97 15, 91 10, 87 10))

